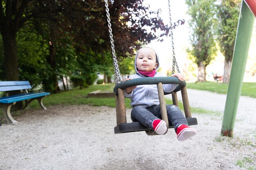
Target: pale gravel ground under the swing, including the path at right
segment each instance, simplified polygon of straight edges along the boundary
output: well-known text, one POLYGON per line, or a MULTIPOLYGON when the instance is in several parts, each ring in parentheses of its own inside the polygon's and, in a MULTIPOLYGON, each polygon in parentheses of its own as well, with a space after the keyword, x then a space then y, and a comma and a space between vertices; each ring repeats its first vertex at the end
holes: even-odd
MULTIPOLYGON (((18 123, 0 127, 0 170, 255 170, 256 99, 240 97, 228 138, 220 136, 226 95, 191 89, 188 95, 192 107, 218 114, 192 113, 198 135, 183 142, 173 129, 115 135, 115 108, 25 110, 14 117, 18 123)), ((130 109, 127 117, 130 122, 130 109)))

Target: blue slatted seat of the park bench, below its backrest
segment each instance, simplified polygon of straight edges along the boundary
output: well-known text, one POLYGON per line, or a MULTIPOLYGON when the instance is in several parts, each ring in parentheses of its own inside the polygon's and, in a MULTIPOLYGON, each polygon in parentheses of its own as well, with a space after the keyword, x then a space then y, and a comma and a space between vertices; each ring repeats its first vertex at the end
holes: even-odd
POLYGON ((36 98, 36 97, 43 97, 43 96, 46 96, 46 95, 49 95, 49 94, 50 93, 48 93, 48 92, 42 92, 42 93, 27 93, 27 94, 22 94, 22 95, 2 97, 2 98, 0 98, 0 103, 19 102, 19 101, 22 101, 22 100, 33 99, 33 98, 36 98))

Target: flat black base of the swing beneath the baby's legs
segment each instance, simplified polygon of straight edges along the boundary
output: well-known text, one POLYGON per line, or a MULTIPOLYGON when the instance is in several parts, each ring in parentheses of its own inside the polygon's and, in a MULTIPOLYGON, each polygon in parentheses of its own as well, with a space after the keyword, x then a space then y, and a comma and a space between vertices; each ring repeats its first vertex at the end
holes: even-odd
MULTIPOLYGON (((189 126, 198 124, 198 121, 195 117, 188 117, 188 118, 186 118, 186 121, 188 122, 189 126)), ((169 125, 169 128, 173 128, 173 126, 169 125)), ((139 132, 139 131, 147 131, 147 130, 151 130, 151 129, 142 125, 138 121, 135 121, 132 123, 119 124, 114 128, 115 134, 128 133, 128 132, 139 132)))

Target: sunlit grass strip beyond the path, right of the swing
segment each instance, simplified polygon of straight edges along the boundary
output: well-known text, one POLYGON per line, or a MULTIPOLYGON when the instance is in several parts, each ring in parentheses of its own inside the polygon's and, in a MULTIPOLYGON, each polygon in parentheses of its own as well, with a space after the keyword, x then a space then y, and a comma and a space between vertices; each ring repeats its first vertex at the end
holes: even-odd
MULTIPOLYGON (((228 84, 218 82, 198 82, 198 83, 187 83, 187 88, 196 90, 211 91, 219 94, 227 94, 228 84)), ((256 97, 256 83, 243 83, 242 85, 242 96, 256 97)))

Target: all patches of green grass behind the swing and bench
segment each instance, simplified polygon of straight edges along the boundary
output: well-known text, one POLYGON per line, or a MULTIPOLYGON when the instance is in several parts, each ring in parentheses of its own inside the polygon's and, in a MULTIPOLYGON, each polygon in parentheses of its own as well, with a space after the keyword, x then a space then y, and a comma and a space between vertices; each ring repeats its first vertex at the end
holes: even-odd
MULTIPOLYGON (((101 90, 101 92, 112 92, 115 84, 97 84, 89 86, 88 88, 73 88, 69 91, 63 91, 57 94, 51 94, 43 99, 43 103, 46 107, 52 105, 80 105, 89 104, 92 106, 109 106, 115 107, 115 98, 88 98, 88 93, 92 91, 101 90)), ((215 93, 225 94, 227 93, 227 84, 216 83, 216 82, 200 82, 200 83, 187 83, 187 88, 193 88, 197 90, 211 91, 215 93)), ((256 97, 256 83, 243 83, 242 95, 250 97, 256 97)), ((130 99, 125 99, 126 108, 130 108, 130 99)), ((166 99, 166 104, 172 104, 171 99, 166 99)), ((183 109, 182 103, 179 103, 181 110, 183 109)), ((31 102, 28 108, 40 108, 38 102, 35 100, 31 102)), ((211 110, 205 110, 202 108, 191 107, 192 113, 197 114, 208 114, 220 116, 221 113, 213 112, 211 110)), ((13 113, 18 114, 18 113, 13 113)), ((0 112, 0 119, 4 117, 3 113, 0 112)))

